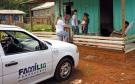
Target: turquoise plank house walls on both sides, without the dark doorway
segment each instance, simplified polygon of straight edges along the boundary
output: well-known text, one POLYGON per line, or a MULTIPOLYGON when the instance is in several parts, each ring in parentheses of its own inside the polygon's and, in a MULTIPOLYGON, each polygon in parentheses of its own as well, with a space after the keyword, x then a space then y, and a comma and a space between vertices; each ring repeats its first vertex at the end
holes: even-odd
MULTIPOLYGON (((63 15, 63 3, 69 0, 61 1, 61 14, 63 15)), ((70 0, 73 1, 73 8, 78 10, 78 19, 82 20, 84 12, 89 14, 89 33, 99 34, 100 32, 100 0, 70 0)), ((58 16, 58 0, 55 1, 55 15, 58 16)), ((125 20, 135 21, 135 0, 125 0, 125 20)), ((121 0, 113 0, 113 21, 114 30, 120 30, 122 28, 122 10, 121 0)), ((135 34, 135 25, 129 30, 128 35, 135 34)))

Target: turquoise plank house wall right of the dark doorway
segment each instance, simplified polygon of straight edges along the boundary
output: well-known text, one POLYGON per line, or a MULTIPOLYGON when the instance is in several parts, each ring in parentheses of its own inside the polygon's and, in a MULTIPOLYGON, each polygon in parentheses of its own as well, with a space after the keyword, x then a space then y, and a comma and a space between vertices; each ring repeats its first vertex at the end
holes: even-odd
MULTIPOLYGON (((122 28, 121 0, 113 0, 114 3, 114 29, 122 28)), ((125 20, 129 23, 135 21, 135 0, 125 0, 125 20)), ((129 30, 128 35, 135 34, 135 25, 129 30)))

